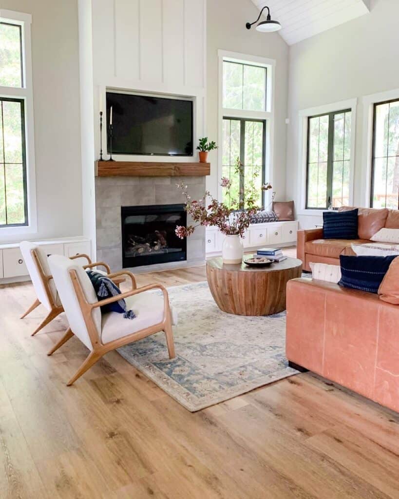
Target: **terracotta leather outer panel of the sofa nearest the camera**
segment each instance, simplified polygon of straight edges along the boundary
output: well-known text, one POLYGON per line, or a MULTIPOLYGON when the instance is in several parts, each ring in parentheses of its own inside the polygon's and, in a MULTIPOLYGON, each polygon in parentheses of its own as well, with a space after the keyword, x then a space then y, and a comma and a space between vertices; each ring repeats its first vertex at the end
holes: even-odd
POLYGON ((395 411, 398 324, 399 305, 376 294, 304 278, 287 283, 286 356, 291 365, 395 411))

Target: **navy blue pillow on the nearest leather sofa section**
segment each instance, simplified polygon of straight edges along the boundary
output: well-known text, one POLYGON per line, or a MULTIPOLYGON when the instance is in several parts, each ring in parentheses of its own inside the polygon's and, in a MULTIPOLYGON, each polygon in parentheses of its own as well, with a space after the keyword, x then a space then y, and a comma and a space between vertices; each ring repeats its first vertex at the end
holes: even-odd
POLYGON ((340 256, 340 286, 377 293, 393 259, 398 256, 340 256))

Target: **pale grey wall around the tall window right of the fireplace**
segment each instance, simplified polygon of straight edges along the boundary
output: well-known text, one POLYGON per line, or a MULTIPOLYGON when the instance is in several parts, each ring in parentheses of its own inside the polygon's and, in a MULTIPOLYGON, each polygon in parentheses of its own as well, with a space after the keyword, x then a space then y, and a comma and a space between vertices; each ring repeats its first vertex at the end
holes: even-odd
MULTIPOLYGON (((207 31, 207 127, 211 140, 218 141, 218 49, 258 55, 276 60, 275 74, 275 127, 273 190, 276 199, 285 199, 285 154, 288 98, 288 46, 278 33, 259 33, 254 27, 246 29, 245 22, 259 15, 251 0, 208 0, 207 31)), ((219 144, 220 145, 220 144, 219 144)), ((209 155, 211 175, 207 189, 217 196, 221 172, 217 167, 217 152, 209 155)), ((269 179, 266 179, 268 181, 269 179)))

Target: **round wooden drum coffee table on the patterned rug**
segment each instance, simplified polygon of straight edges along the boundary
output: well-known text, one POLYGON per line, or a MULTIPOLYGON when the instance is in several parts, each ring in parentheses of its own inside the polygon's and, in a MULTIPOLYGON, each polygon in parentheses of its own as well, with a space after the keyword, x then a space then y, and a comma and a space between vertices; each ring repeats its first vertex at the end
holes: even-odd
MULTIPOLYGON (((249 257, 249 256, 247 256, 249 257)), ((217 306, 235 315, 271 315, 285 310, 285 288, 302 275, 302 261, 287 258, 267 267, 206 260, 206 278, 217 306)))

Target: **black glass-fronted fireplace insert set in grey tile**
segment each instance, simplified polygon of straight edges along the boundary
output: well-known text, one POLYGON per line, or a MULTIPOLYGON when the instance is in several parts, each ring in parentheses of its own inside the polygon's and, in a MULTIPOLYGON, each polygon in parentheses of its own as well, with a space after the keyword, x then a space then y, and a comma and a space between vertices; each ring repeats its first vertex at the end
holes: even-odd
POLYGON ((186 239, 175 234, 187 226, 185 205, 122 206, 122 264, 138 267, 187 260, 186 239))

